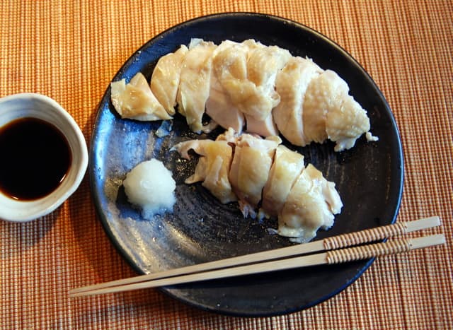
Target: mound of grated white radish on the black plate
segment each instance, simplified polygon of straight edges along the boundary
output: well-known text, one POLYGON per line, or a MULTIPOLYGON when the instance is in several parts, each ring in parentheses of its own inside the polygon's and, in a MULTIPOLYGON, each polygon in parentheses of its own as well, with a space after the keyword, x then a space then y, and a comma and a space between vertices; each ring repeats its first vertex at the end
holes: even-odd
POLYGON ((161 161, 139 163, 127 173, 123 185, 127 199, 142 209, 144 218, 173 210, 176 182, 161 161))

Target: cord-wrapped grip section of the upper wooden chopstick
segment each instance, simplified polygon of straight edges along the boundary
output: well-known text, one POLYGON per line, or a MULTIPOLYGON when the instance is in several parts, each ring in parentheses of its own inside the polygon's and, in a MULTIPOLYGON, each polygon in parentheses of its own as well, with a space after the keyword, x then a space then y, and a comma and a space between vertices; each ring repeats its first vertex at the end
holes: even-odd
POLYGON ((405 223, 394 223, 393 225, 384 225, 382 227, 370 228, 361 230, 360 232, 350 232, 348 234, 328 237, 323 240, 326 250, 340 249, 342 247, 350 247, 366 242, 383 240, 386 237, 406 234, 405 223))

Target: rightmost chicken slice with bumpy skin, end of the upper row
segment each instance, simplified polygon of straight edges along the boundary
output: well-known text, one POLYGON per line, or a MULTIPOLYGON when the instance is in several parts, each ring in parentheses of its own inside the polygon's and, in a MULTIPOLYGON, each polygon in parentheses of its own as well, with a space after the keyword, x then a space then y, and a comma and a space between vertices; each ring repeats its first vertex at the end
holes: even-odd
POLYGON ((352 148, 364 133, 367 133, 368 141, 377 141, 377 138, 369 133, 367 112, 351 95, 343 95, 340 107, 327 113, 326 133, 331 141, 336 142, 335 151, 352 148))

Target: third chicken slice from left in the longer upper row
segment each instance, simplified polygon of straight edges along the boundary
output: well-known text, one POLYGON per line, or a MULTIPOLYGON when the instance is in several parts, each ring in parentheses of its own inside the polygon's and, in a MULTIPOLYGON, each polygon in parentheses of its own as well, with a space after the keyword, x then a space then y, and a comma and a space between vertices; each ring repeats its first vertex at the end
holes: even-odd
POLYGON ((210 94, 213 42, 192 40, 180 73, 176 100, 178 111, 185 116, 190 129, 200 134, 206 100, 210 94))

